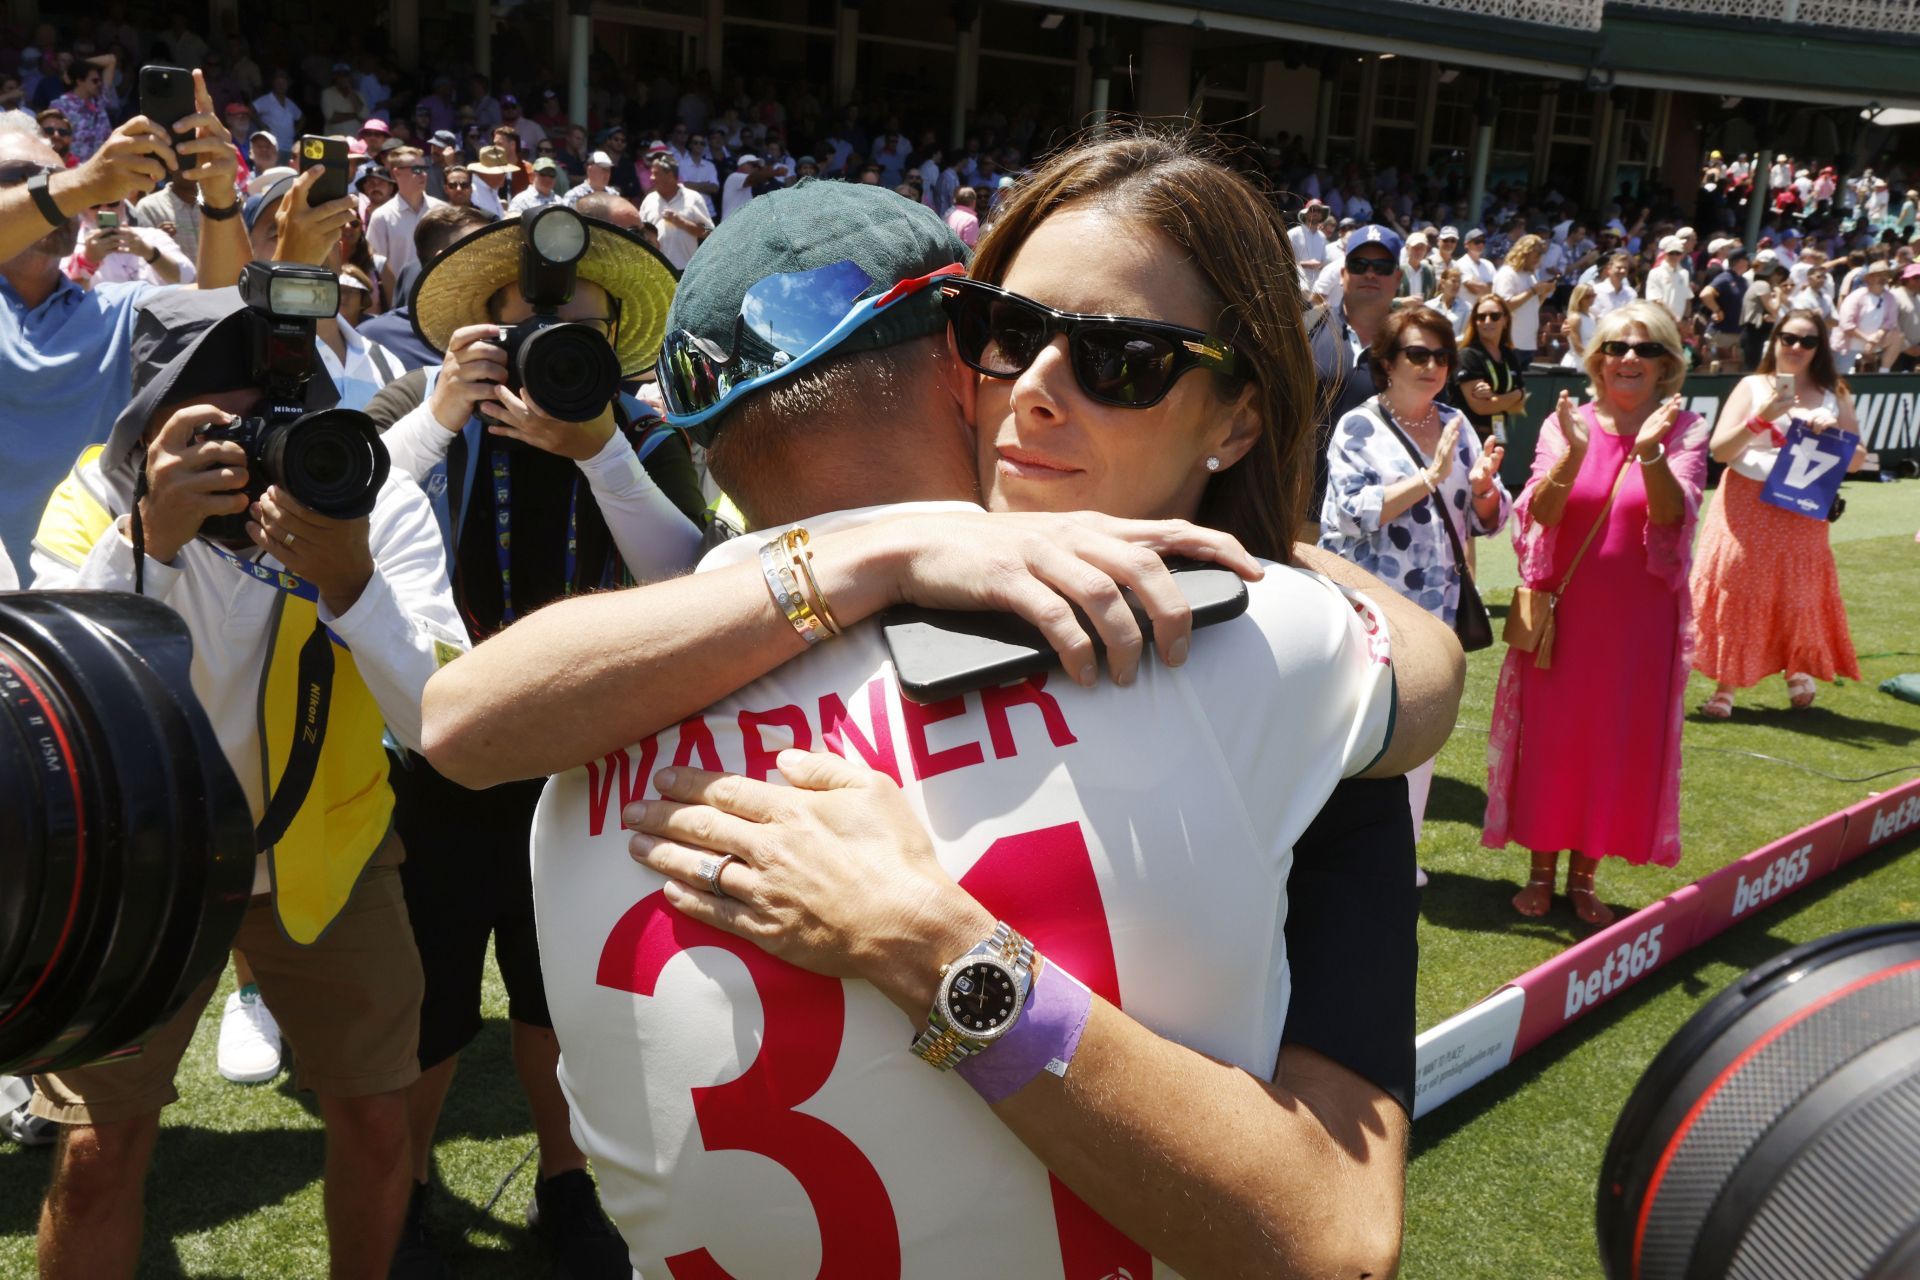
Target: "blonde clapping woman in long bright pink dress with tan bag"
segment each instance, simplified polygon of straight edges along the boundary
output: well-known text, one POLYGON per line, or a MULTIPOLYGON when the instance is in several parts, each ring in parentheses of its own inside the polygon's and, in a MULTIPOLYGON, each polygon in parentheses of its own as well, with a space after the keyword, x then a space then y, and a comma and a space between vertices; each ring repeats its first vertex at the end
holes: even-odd
POLYGON ((1680 409, 1686 365, 1663 307, 1609 311, 1586 372, 1594 399, 1576 409, 1561 393, 1513 509, 1521 580, 1563 595, 1551 666, 1519 649, 1501 666, 1480 842, 1532 850, 1532 875, 1513 898, 1521 915, 1553 904, 1559 850, 1569 850, 1567 896, 1582 921, 1603 927, 1613 910, 1594 889, 1601 858, 1680 860, 1688 560, 1707 422, 1680 409))

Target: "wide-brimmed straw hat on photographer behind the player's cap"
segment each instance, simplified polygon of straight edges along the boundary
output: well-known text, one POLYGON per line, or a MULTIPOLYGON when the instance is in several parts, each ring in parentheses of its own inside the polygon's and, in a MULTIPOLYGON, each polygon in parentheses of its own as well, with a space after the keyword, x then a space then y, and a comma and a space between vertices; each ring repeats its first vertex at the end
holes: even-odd
MULTIPOLYGON (((588 225, 588 251, 580 257, 582 280, 620 299, 614 355, 620 376, 653 368, 666 340, 666 307, 674 301, 676 274, 668 261, 630 230, 597 217, 588 225)), ((482 226, 436 257, 413 286, 413 330, 434 351, 445 351, 453 330, 486 324, 488 299, 520 280, 518 215, 482 226)))

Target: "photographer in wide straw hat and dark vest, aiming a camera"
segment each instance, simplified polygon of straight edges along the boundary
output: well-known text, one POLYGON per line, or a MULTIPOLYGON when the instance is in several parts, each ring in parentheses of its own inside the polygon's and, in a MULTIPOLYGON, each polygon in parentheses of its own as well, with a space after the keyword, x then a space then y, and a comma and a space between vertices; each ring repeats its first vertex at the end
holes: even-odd
MULTIPOLYGON (((637 236, 570 209, 472 230, 420 273, 413 322, 445 359, 438 370, 407 374, 369 411, 384 420, 407 393, 417 399, 386 432, 386 445, 396 470, 434 493, 455 599, 474 635, 492 635, 564 595, 609 587, 622 570, 647 581, 691 566, 701 510, 693 461, 682 438, 614 382, 651 367, 672 294, 672 271, 637 236), (536 242, 551 234, 574 238, 578 265, 540 257, 536 242), (534 297, 528 282, 538 286, 534 297), (603 347, 609 374, 563 416, 549 416, 536 399, 570 399, 576 390, 564 378, 541 384, 541 351, 551 349, 543 344, 555 340, 603 347)), ((578 368, 588 353, 572 347, 566 363, 578 368)), ((474 793, 411 752, 396 758, 392 777, 394 819, 409 850, 401 881, 426 971, 422 1075, 409 1092, 415 1192, 401 1257, 430 1267, 434 1126, 459 1054, 482 1027, 480 975, 492 938, 511 1002, 515 1069, 540 1134, 530 1221, 557 1247, 566 1274, 624 1280, 626 1249, 601 1215, 555 1080, 559 1044, 526 860, 540 783, 474 793)))

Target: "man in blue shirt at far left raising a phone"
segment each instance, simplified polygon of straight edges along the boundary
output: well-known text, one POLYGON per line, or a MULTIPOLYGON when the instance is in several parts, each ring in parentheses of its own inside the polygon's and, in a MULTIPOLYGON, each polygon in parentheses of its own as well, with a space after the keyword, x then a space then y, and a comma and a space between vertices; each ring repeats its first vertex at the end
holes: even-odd
POLYGON ((100 388, 127 386, 132 311, 150 284, 84 290, 60 271, 73 253, 81 211, 142 196, 169 173, 200 188, 198 278, 232 284, 248 259, 234 173, 238 157, 205 83, 194 77, 194 113, 179 121, 136 115, 94 155, 67 169, 38 127, 0 115, 0 420, 10 428, 0 480, 0 541, 29 547, 48 491, 73 455, 106 439, 117 411, 100 388), (192 132, 173 146, 167 127, 192 132))

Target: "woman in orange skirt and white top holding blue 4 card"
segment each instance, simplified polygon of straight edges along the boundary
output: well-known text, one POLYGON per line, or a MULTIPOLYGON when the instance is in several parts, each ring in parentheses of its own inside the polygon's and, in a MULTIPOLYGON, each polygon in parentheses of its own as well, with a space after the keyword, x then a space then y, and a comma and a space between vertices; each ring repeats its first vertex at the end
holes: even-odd
MULTIPOLYGON (((1761 367, 1726 397, 1713 430, 1713 457, 1726 472, 1693 562, 1693 670, 1715 681, 1699 708, 1711 720, 1732 716, 1734 693, 1770 676, 1786 676, 1801 710, 1812 706, 1816 679, 1860 679, 1832 526, 1761 501, 1791 422, 1859 432, 1816 311, 1789 311, 1774 326, 1761 367)), ((1847 470, 1864 462, 1857 447, 1847 470)))

